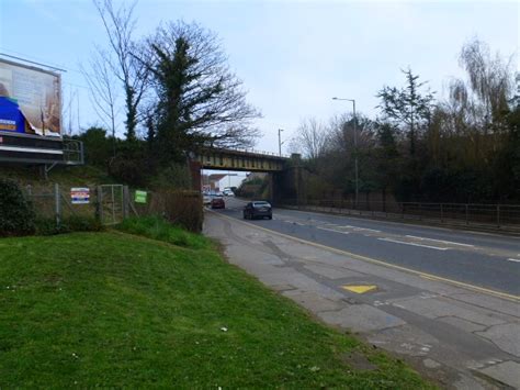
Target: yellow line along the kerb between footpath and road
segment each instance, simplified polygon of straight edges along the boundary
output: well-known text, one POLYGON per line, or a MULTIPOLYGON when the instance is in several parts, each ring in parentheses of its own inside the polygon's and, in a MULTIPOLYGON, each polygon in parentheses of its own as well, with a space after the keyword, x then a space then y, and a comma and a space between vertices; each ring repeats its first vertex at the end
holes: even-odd
POLYGON ((334 253, 337 253, 339 255, 350 256, 350 257, 355 258, 358 260, 372 263, 372 264, 377 264, 380 266, 387 267, 387 268, 399 269, 399 270, 408 272, 408 274, 418 275, 419 277, 425 278, 425 279, 431 279, 431 280, 436 280, 436 281, 443 281, 445 283, 450 283, 450 285, 462 287, 462 288, 465 288, 465 289, 468 289, 468 290, 486 293, 488 296, 495 296, 495 297, 499 297, 499 298, 502 298, 502 299, 507 299, 509 301, 520 302, 520 297, 519 296, 513 296, 513 294, 509 294, 509 293, 506 293, 506 292, 495 291, 495 290, 486 289, 484 287, 473 286, 473 285, 470 285, 470 283, 464 283, 462 281, 441 278, 441 277, 436 276, 436 275, 421 272, 421 271, 410 269, 410 268, 406 268, 406 267, 402 267, 402 266, 396 266, 395 264, 385 263, 385 261, 382 261, 382 260, 376 260, 375 258, 357 255, 357 254, 353 254, 351 252, 334 248, 331 246, 321 245, 321 244, 318 244, 318 243, 313 243, 312 241, 307 241, 307 239, 303 239, 303 238, 298 238, 298 237, 293 237, 291 235, 279 233, 276 231, 272 231, 270 229, 258 226, 258 225, 255 225, 255 224, 249 223, 249 222, 245 222, 245 221, 241 221, 241 220, 237 220, 235 218, 223 215, 223 214, 217 213, 213 210, 207 210, 207 211, 214 213, 215 215, 217 215, 219 218, 223 218, 223 219, 226 219, 226 220, 229 220, 229 221, 242 223, 242 224, 248 225, 250 227, 259 229, 261 231, 264 231, 264 232, 268 232, 268 233, 271 233, 271 234, 275 234, 275 235, 279 235, 279 236, 287 238, 287 239, 292 239, 292 241, 295 241, 295 242, 298 242, 298 243, 312 245, 314 247, 326 249, 326 250, 329 250, 329 252, 334 252, 334 253))

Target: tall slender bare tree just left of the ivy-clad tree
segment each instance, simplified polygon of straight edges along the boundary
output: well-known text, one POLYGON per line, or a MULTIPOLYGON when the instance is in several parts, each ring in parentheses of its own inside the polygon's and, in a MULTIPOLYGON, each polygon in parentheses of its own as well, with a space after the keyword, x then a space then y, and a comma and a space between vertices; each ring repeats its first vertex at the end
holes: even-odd
POLYGON ((132 37, 136 20, 133 15, 136 2, 129 7, 114 9, 111 0, 93 0, 103 21, 109 37, 111 55, 104 52, 104 59, 123 86, 125 97, 126 138, 136 138, 138 107, 148 86, 148 68, 137 60, 135 52, 139 51, 132 37))

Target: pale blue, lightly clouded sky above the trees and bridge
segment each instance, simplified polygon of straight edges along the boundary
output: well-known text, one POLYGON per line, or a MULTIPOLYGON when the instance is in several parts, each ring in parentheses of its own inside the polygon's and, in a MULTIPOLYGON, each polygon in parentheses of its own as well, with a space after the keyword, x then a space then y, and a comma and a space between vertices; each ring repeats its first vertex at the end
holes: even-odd
MULTIPOLYGON (((449 79, 463 76, 457 55, 475 36, 518 69, 519 12, 516 1, 138 0, 135 37, 176 20, 215 32, 262 113, 256 149, 278 152, 283 129, 287 152, 302 120, 351 112, 332 97, 355 99, 359 112, 375 116, 375 94, 403 86, 400 69, 442 97, 449 79)), ((0 53, 67 70, 63 111, 72 132, 101 123, 79 71, 95 45, 106 46, 106 36, 90 0, 0 0, 0 53)))

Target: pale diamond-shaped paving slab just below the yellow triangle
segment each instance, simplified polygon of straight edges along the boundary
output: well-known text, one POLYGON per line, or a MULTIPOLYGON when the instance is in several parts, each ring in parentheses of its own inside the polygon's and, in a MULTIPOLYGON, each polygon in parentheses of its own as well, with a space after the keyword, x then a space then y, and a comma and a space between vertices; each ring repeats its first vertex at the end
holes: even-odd
POLYGON ((368 304, 353 304, 339 311, 319 312, 317 314, 329 324, 358 333, 380 331, 405 324, 403 320, 368 304))

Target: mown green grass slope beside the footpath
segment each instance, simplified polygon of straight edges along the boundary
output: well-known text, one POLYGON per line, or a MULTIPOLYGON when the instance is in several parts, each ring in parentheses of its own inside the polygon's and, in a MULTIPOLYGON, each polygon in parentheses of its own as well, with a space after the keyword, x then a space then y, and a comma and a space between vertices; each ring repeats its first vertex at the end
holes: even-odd
POLYGON ((184 247, 118 232, 0 239, 0 387, 98 386, 429 387, 314 322, 204 237, 188 234, 184 247), (376 369, 351 367, 353 352, 376 369))

